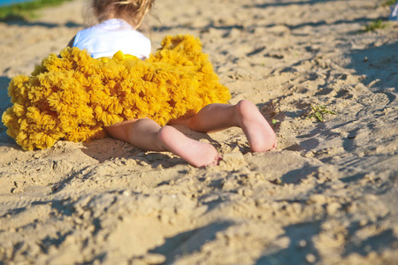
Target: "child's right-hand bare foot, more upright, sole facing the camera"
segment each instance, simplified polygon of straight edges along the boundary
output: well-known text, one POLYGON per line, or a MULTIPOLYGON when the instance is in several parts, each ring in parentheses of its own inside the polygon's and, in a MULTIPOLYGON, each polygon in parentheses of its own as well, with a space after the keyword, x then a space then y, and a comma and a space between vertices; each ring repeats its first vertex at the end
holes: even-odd
POLYGON ((277 147, 276 134, 256 105, 242 100, 236 104, 236 110, 240 114, 238 123, 249 140, 252 152, 265 152, 277 147))

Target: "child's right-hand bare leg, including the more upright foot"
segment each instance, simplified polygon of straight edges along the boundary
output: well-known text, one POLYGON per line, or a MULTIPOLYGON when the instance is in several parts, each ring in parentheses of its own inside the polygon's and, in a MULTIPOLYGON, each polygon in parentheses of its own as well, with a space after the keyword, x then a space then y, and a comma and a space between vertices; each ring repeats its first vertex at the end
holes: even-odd
POLYGON ((173 123, 187 125, 192 130, 203 133, 238 126, 248 138, 251 151, 264 152, 277 146, 276 135, 271 125, 257 110, 256 105, 246 100, 236 105, 210 104, 194 117, 173 123))

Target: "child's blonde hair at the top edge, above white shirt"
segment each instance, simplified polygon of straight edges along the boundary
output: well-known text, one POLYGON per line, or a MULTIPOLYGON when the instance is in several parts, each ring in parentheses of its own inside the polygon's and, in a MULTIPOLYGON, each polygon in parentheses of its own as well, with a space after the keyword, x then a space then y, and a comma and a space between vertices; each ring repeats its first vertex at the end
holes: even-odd
POLYGON ((124 19, 137 28, 154 3, 155 0, 93 0, 93 8, 100 22, 124 19))

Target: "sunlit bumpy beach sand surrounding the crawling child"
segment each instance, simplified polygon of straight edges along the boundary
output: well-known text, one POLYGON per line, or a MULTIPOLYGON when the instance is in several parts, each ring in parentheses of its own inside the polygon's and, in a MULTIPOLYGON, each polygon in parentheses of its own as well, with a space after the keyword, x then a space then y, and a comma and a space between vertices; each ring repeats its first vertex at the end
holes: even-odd
MULTIPOLYGON (((194 168, 110 138, 23 151, 0 128, 0 264, 397 264, 398 22, 377 0, 158 0, 142 27, 201 38, 232 103, 279 146, 195 133, 224 156, 194 168), (310 104, 337 115, 318 122, 310 104)), ((7 86, 81 28, 75 0, 0 22, 7 86)))

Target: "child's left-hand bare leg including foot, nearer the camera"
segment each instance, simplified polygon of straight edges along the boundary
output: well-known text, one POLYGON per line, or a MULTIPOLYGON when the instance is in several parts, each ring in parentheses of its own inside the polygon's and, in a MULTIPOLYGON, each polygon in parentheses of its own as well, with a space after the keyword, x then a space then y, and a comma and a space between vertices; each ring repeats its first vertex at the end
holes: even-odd
POLYGON ((149 118, 128 120, 105 127, 111 137, 147 151, 170 151, 188 163, 202 167, 217 164, 219 155, 213 146, 192 140, 172 126, 161 127, 149 118))

